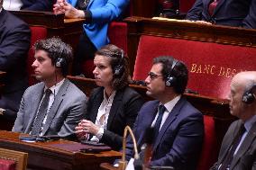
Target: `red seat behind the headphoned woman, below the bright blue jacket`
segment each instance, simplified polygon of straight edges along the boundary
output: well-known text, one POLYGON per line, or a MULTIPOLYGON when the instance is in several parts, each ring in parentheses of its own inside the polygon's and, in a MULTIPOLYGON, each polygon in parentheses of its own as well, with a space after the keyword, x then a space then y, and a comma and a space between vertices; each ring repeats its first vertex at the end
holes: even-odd
MULTIPOLYGON (((127 51, 127 23, 125 22, 111 22, 108 27, 108 38, 111 44, 127 51)), ((82 71, 87 77, 93 76, 94 62, 92 59, 86 60, 82 63, 82 71)))

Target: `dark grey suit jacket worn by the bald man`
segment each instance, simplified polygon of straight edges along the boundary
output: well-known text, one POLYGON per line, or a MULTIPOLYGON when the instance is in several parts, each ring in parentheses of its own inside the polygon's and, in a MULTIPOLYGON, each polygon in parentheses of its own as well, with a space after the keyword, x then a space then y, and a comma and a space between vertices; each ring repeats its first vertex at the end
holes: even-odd
MULTIPOLYGON (((218 161, 211 170, 217 170, 224 161, 224 157, 231 147, 233 139, 237 135, 242 126, 242 121, 234 121, 227 130, 220 149, 218 161)), ((241 147, 234 155, 231 162, 230 170, 256 170, 256 123, 253 124, 251 130, 242 142, 241 147)))

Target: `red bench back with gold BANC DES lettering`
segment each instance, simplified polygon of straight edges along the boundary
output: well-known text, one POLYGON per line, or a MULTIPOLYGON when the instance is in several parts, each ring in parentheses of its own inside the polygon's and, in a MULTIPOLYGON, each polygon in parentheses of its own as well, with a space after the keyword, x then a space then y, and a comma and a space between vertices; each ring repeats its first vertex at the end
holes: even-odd
POLYGON ((255 48, 142 35, 133 80, 144 80, 152 58, 162 55, 182 60, 189 71, 187 88, 210 97, 226 98, 235 73, 256 70, 255 48))

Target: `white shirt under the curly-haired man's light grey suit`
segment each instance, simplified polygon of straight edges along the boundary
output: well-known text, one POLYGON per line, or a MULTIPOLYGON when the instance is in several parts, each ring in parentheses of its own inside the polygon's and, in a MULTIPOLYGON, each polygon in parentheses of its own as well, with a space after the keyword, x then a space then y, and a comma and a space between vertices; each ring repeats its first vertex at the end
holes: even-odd
MULTIPOLYGON (((48 108, 47 108, 47 113, 46 113, 46 115, 45 115, 45 117, 44 117, 44 119, 43 119, 43 121, 42 121, 42 124, 41 124, 41 132, 42 132, 42 130, 43 130, 43 126, 44 126, 45 123, 46 123, 47 116, 48 116, 48 112, 50 111, 50 107, 51 107, 52 103, 54 102, 55 96, 56 96, 56 94, 58 94, 59 88, 60 88, 61 85, 63 85, 64 81, 65 81, 65 78, 63 78, 63 80, 61 80, 58 84, 53 85, 53 86, 50 87, 51 94, 50 94, 49 104, 48 104, 48 108)), ((46 89, 47 89, 47 87, 45 86, 45 87, 44 87, 44 92, 46 91, 46 89)), ((41 101, 43 100, 44 96, 45 96, 45 94, 43 94, 43 96, 42 96, 42 98, 41 98, 41 101)), ((41 105, 41 103, 40 103, 40 105, 41 105)), ((39 105, 38 108, 40 108, 40 105, 39 105)), ((36 114, 38 114, 38 111, 37 111, 36 114)), ((34 120, 36 120, 36 118, 35 118, 34 120)), ((42 135, 42 133, 40 133, 40 136, 41 136, 41 135, 42 135)))

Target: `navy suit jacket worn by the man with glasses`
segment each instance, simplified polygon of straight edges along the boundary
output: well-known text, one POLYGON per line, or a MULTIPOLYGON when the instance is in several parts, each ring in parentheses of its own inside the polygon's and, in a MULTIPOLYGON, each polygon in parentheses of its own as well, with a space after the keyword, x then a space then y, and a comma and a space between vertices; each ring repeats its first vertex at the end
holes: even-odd
MULTIPOLYGON (((145 143, 146 130, 151 127, 159 104, 159 101, 145 103, 138 114, 133 133, 139 150, 145 143)), ((151 166, 173 166, 175 170, 196 169, 203 137, 203 115, 181 97, 152 144, 151 166)), ((131 138, 127 140, 126 146, 129 160, 134 155, 131 138)))

